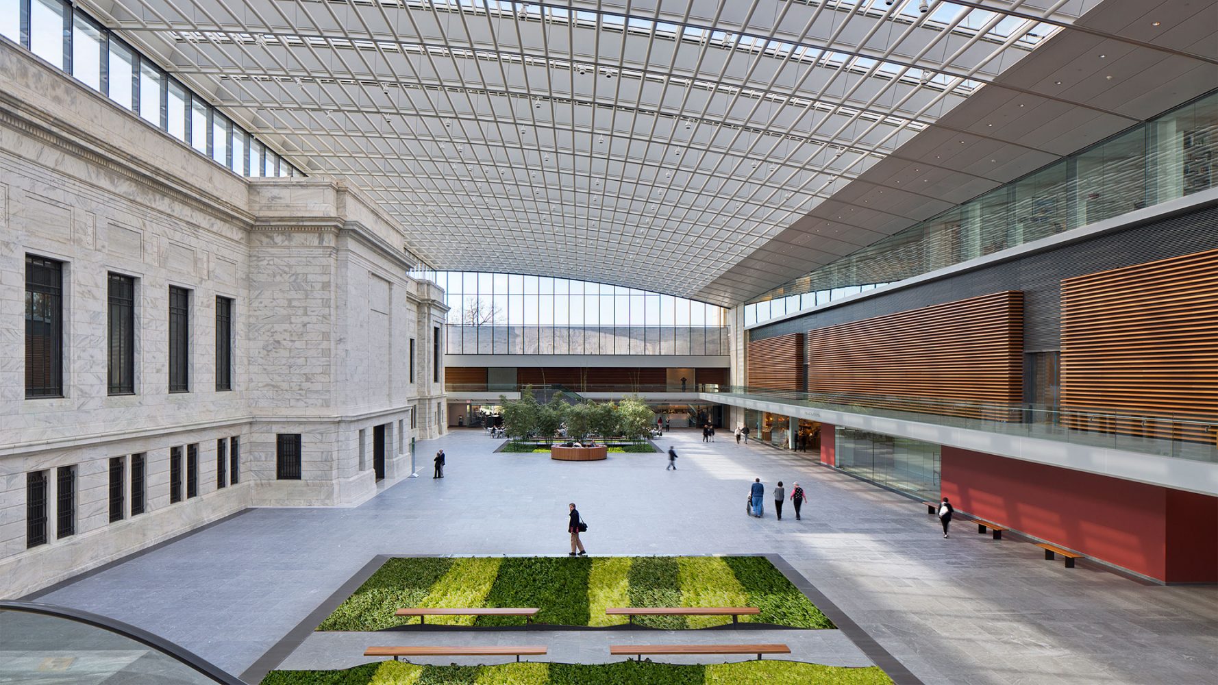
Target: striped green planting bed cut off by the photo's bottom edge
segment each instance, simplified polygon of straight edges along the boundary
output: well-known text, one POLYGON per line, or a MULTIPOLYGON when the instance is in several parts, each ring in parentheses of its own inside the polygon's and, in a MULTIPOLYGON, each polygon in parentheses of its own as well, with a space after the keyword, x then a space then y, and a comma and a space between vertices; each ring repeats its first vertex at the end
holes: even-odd
POLYGON ((418 665, 378 662, 346 670, 273 670, 262 685, 892 685, 878 667, 843 668, 790 661, 716 664, 616 662, 418 665))

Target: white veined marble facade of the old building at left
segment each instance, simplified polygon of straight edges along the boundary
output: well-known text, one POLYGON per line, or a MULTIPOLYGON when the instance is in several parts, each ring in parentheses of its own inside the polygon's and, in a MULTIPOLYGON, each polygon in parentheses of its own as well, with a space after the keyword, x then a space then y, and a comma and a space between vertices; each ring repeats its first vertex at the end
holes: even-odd
POLYGON ((354 188, 241 178, 0 41, 0 597, 246 507, 364 501, 378 425, 385 477, 409 474, 413 441, 445 430, 431 351, 446 307, 438 286, 408 275, 408 243, 354 188), (63 263, 62 397, 24 392, 27 255, 63 263), (108 272, 136 279, 132 395, 108 394, 108 272), (168 391, 171 285, 191 293, 189 392, 168 391), (234 300, 231 390, 216 389, 217 296, 234 300), (301 435, 300 480, 276 479, 279 434, 301 435), (236 483, 218 463, 233 438, 236 483), (197 494, 171 503, 171 449, 188 445, 197 494), (145 463, 138 516, 132 455, 145 463), (124 511, 111 522, 114 457, 124 511), (58 539, 66 466, 74 533, 58 539), (40 470, 48 541, 27 547, 27 479, 40 470))

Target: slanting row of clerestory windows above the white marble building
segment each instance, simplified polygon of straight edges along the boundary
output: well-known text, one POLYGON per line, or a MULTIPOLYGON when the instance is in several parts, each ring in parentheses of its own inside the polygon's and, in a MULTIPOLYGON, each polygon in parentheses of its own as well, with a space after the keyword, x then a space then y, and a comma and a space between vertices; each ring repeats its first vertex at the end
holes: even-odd
POLYGON ((0 37, 234 173, 304 176, 71 2, 0 0, 0 37))

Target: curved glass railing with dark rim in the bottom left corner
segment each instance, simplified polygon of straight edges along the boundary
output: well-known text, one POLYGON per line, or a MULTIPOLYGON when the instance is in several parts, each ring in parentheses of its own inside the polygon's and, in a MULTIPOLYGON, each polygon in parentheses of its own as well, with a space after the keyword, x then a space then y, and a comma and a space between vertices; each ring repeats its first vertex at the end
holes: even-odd
POLYGON ((34 602, 0 601, 0 683, 245 685, 133 625, 34 602))

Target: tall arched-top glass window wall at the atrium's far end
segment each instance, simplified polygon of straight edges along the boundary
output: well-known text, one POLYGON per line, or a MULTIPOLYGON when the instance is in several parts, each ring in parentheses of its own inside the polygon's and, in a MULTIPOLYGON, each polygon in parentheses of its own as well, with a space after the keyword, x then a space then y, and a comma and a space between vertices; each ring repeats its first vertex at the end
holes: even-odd
POLYGON ((726 355, 726 310, 633 288, 436 272, 449 355, 726 355))

